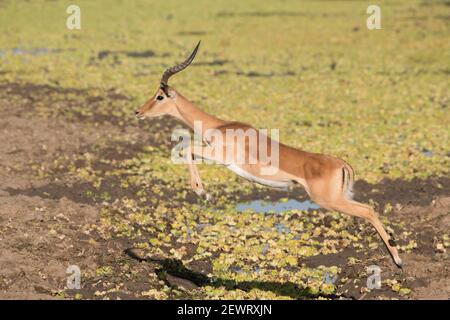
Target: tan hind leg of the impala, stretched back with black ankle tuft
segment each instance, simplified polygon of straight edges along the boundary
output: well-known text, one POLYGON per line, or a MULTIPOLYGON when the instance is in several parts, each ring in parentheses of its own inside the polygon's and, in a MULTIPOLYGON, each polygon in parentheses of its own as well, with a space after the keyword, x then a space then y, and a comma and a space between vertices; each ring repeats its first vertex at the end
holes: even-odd
POLYGON ((395 240, 387 234, 386 230, 383 227, 383 224, 378 218, 378 214, 370 206, 346 199, 344 197, 331 203, 327 203, 326 206, 333 210, 340 211, 352 216, 361 217, 369 221, 377 230, 378 234, 389 250, 389 253, 391 254, 395 264, 400 268, 402 267, 402 260, 400 259, 397 248, 395 247, 395 240))

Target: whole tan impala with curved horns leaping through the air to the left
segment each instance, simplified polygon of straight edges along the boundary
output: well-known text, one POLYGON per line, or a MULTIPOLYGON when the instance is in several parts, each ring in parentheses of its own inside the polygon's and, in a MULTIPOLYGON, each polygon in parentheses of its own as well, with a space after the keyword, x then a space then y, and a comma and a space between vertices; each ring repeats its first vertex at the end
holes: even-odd
MULTIPOLYGON (((267 164, 263 163, 258 155, 248 155, 251 149, 249 139, 237 142, 234 139, 231 142, 229 139, 215 139, 215 141, 212 141, 210 137, 206 136, 208 130, 215 130, 215 132, 219 132, 223 136, 229 130, 255 130, 256 132, 258 130, 248 124, 225 121, 209 115, 197 108, 177 90, 169 87, 169 78, 191 64, 199 46, 200 42, 184 62, 164 72, 155 95, 136 111, 136 117, 139 119, 170 115, 181 120, 191 129, 194 129, 196 122, 201 122, 202 128, 200 133, 205 145, 200 147, 190 145, 188 148, 189 160, 187 161, 187 166, 193 190, 199 195, 205 194, 197 166, 195 161, 192 160, 197 155, 214 154, 210 149, 206 150, 211 148, 211 144, 214 142, 215 150, 223 151, 222 154, 232 154, 231 159, 239 158, 239 156, 244 154, 243 158, 245 161, 243 162, 224 161, 221 158, 213 159, 225 165, 237 175, 252 182, 275 188, 301 185, 310 198, 321 207, 361 217, 370 222, 377 230, 396 265, 401 267, 402 260, 398 255, 395 240, 387 234, 378 219, 378 214, 370 206, 352 200, 354 173, 352 167, 344 160, 330 155, 306 152, 276 142, 278 145, 278 168, 276 173, 267 175, 261 173, 261 169, 266 167, 267 164)), ((264 140, 265 142, 261 141, 260 138, 256 141, 257 151, 262 148, 273 150, 272 143, 274 140, 267 138, 264 140)))

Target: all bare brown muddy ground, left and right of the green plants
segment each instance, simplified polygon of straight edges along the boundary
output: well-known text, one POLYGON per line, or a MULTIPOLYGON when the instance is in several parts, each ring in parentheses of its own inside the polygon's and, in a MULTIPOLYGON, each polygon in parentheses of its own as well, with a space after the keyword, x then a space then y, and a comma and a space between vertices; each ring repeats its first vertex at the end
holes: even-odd
MULTIPOLYGON (((107 172, 109 166, 132 158, 147 145, 168 146, 170 127, 174 123, 164 118, 152 124, 128 121, 123 125, 118 118, 95 111, 89 116, 75 112, 68 121, 59 111, 70 105, 71 95, 93 105, 97 100, 117 101, 127 97, 109 92, 95 98, 83 91, 64 90, 16 83, 0 87, 0 299, 139 299, 146 298, 143 292, 152 290, 156 291, 149 297, 158 298, 157 290, 164 286, 195 291, 206 284, 291 295, 289 283, 269 285, 220 279, 211 282, 206 277, 212 269, 207 260, 183 265, 176 258, 142 257, 139 250, 132 249, 129 238, 111 237, 99 231, 96 226, 100 224, 104 199, 86 196, 86 190, 95 188, 89 182, 74 181, 65 174, 64 162, 57 165, 55 161, 64 155, 86 153, 93 154, 95 160, 95 155, 101 154, 109 163, 103 161, 93 166, 107 172), (49 94, 67 98, 65 104, 52 100, 49 103, 54 109, 50 115, 38 113, 37 100, 49 94), (118 131, 121 139, 117 139, 118 131), (66 268, 72 264, 83 270, 81 290, 65 288, 66 268), (99 267, 104 265, 117 268, 104 270, 102 274, 99 267)), ((76 163, 78 167, 84 165, 81 160, 76 163)), ((163 195, 158 196, 170 202, 174 191, 161 188, 163 195)), ((135 190, 121 188, 114 177, 106 177, 100 191, 107 191, 113 199, 136 197, 135 190)), ((199 201, 187 186, 186 194, 185 201, 199 201)), ((342 281, 330 298, 450 298, 449 258, 445 247, 438 245, 450 226, 450 178, 383 180, 376 185, 358 181, 355 194, 356 199, 375 201, 380 212, 386 204, 393 204, 389 219, 406 225, 417 247, 402 254, 403 270, 393 265, 381 246, 364 254, 344 250, 299 262, 311 267, 339 265, 342 268, 339 275, 342 281), (356 255, 360 262, 350 264, 347 259, 350 255, 356 255), (411 292, 399 295, 385 285, 379 290, 364 290, 365 266, 370 264, 379 265, 383 277, 398 279, 411 292)), ((255 189, 245 199, 277 200, 285 196, 281 192, 255 189)), ((304 198, 304 193, 293 191, 289 196, 304 198)), ((142 232, 141 236, 145 237, 142 232)), ((189 255, 195 246, 187 250, 189 255)), ((292 297, 305 298, 296 294, 292 297)))

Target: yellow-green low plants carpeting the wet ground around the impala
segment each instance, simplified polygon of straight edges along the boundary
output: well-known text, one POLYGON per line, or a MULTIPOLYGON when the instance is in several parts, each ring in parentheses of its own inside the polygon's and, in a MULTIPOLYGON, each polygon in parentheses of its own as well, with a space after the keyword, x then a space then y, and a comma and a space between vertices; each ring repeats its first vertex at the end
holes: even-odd
MULTIPOLYGON (((27 116, 70 121, 103 116, 126 127, 137 121, 134 110, 154 93, 164 68, 201 39, 196 63, 171 83, 207 112, 278 128, 283 142, 342 157, 358 179, 368 182, 448 174, 447 2, 380 2, 382 30, 374 31, 365 25, 370 4, 365 1, 77 4, 82 26, 71 31, 65 27, 67 1, 0 2, 1 82, 69 89, 39 96, 27 116), (15 48, 24 53, 14 54, 15 48), (30 54, 37 48, 50 51, 30 54), (130 54, 149 50, 150 57, 130 54)), ((116 139, 131 140, 119 129, 116 139)), ((298 261, 379 243, 363 239, 361 226, 336 213, 328 227, 322 212, 296 220, 237 213, 230 195, 253 189, 216 166, 201 166, 215 205, 186 202, 186 170, 170 162, 165 145, 112 163, 101 147, 93 150, 97 164, 110 165, 108 170, 96 169, 92 154, 59 155, 55 168, 67 168, 70 179, 93 186, 94 194, 87 191, 87 196, 102 203, 101 220, 93 228, 105 238, 127 237, 147 255, 168 255, 185 264, 209 261, 210 277, 224 283, 290 283, 284 291, 216 285, 180 293, 160 287, 143 296, 299 298, 291 292, 296 288, 306 296, 327 296, 335 287, 324 282, 325 276, 338 274, 338 266, 307 268, 298 261), (86 166, 77 167, 77 160, 86 166), (112 197, 100 190, 108 178, 116 179, 116 188, 138 191, 112 197), (290 233, 277 232, 279 223, 290 233), (188 254, 192 244, 196 250, 188 254)), ((47 171, 39 174, 53 174, 47 171)), ((102 274, 114 272, 102 268, 102 274)))

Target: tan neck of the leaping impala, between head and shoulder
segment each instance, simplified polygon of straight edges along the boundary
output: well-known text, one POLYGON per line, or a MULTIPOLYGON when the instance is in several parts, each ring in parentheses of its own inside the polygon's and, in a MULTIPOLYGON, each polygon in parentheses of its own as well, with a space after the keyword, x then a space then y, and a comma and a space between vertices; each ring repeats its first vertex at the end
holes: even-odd
POLYGON ((191 129, 194 129, 194 123, 201 121, 202 134, 208 129, 216 128, 225 123, 225 121, 200 110, 178 92, 175 98, 175 104, 177 108, 172 115, 184 122, 191 129))

